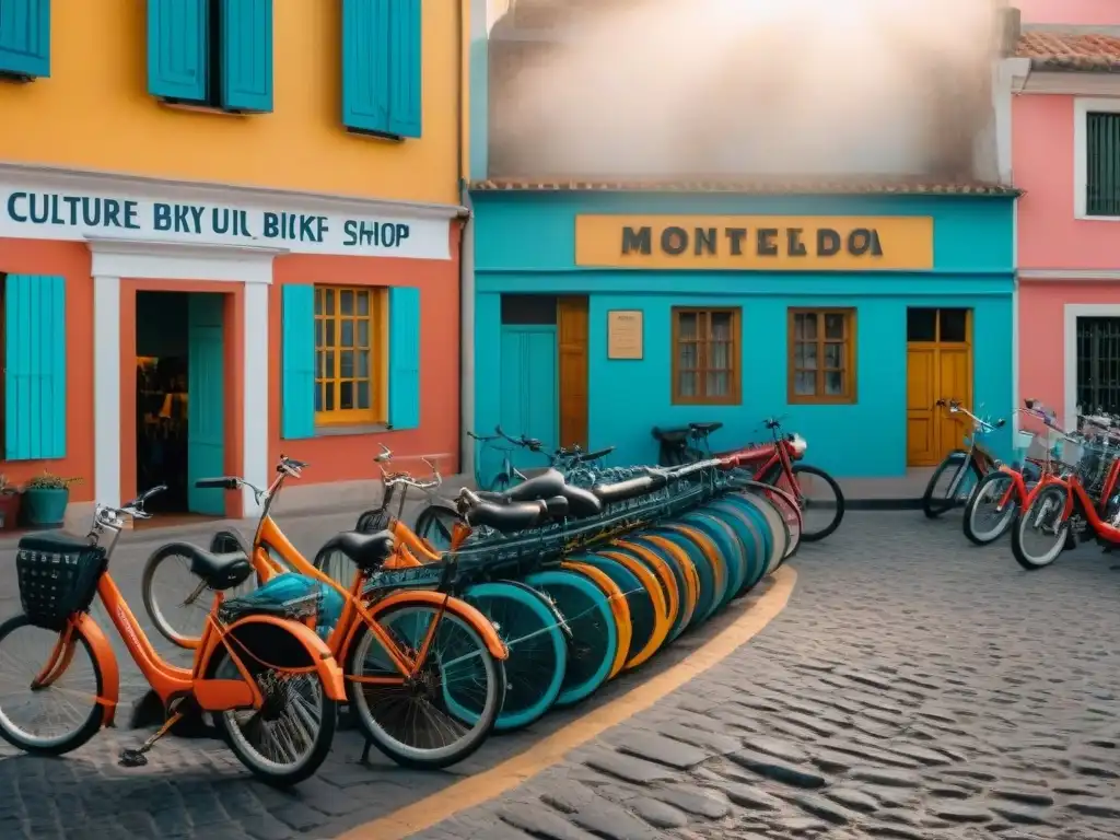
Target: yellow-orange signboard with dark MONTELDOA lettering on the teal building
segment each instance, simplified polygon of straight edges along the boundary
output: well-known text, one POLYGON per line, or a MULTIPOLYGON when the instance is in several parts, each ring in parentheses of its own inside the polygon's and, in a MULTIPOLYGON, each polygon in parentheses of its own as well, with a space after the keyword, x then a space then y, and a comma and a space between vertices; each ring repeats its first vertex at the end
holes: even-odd
POLYGON ((928 217, 578 216, 578 265, 876 270, 933 267, 928 217))

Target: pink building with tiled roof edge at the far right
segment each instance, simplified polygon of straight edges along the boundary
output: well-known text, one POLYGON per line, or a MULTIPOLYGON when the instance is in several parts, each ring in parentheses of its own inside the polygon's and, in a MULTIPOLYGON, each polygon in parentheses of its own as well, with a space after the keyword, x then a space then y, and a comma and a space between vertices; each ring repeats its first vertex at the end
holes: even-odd
POLYGON ((1018 0, 1018 394, 1120 411, 1120 2, 1018 0))

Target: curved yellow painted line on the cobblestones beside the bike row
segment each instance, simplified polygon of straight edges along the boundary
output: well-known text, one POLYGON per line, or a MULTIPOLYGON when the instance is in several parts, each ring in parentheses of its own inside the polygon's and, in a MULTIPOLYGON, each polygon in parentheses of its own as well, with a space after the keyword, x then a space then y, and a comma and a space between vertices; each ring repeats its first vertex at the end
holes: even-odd
POLYGON ((773 576, 769 590, 750 605, 729 627, 670 669, 635 685, 616 700, 592 709, 524 753, 477 776, 465 778, 386 816, 357 825, 338 840, 402 840, 430 829, 460 811, 480 805, 563 760, 572 749, 603 735, 627 718, 644 711, 689 680, 719 663, 758 635, 790 601, 797 572, 783 566, 773 576))

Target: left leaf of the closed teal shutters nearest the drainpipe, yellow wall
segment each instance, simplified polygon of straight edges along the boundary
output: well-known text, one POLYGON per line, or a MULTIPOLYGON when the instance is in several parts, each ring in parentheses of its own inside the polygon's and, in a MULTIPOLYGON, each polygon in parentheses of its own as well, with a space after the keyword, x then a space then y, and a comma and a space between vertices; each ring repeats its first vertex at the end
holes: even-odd
POLYGON ((343 124, 389 134, 390 0, 343 0, 343 124))

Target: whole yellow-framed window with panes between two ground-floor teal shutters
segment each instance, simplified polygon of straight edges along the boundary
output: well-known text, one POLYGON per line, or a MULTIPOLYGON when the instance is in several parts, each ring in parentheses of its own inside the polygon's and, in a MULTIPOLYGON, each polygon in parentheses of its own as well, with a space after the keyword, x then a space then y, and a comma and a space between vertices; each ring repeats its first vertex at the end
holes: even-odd
POLYGON ((385 289, 315 287, 315 422, 386 421, 385 289))

